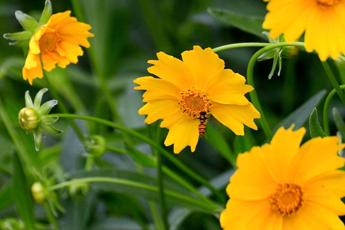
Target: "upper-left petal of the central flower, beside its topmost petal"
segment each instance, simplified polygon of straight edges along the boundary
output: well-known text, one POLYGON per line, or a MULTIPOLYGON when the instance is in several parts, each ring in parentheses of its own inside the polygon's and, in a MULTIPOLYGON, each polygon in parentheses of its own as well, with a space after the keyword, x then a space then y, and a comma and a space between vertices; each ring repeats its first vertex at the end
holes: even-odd
POLYGON ((149 73, 175 84, 180 91, 187 91, 193 87, 194 79, 185 63, 163 52, 157 53, 157 57, 158 60, 148 61, 154 64, 147 69, 149 73))

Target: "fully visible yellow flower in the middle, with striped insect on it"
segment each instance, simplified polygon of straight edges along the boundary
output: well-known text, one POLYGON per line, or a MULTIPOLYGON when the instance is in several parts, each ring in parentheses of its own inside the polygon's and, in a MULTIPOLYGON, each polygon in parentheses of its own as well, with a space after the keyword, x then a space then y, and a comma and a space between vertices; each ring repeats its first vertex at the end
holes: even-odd
POLYGON ((148 124, 163 119, 160 127, 169 129, 164 144, 175 144, 175 153, 187 145, 195 150, 200 112, 211 113, 236 135, 244 135, 243 124, 257 129, 253 119, 260 113, 244 96, 253 87, 243 76, 224 70, 224 61, 211 48, 194 46, 182 53, 183 61, 163 52, 157 57, 148 61, 154 64, 148 72, 159 78, 137 78, 134 83, 141 86, 134 89, 147 90, 143 94, 147 103, 139 114, 148 115, 148 124))

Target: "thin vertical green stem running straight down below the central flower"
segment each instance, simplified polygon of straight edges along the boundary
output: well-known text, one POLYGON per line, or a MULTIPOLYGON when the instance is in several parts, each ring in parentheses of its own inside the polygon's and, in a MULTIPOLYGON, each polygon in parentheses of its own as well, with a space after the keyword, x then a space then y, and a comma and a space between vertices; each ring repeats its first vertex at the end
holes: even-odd
MULTIPOLYGON (((160 122, 159 122, 160 123, 160 122)), ((157 132, 156 132, 156 144, 158 145, 159 137, 160 137, 160 127, 159 123, 157 125, 157 132)), ((156 149, 154 149, 156 150, 156 149)), ((165 230, 169 229, 168 220, 167 220, 167 209, 165 204, 164 198, 164 185, 163 185, 163 175, 162 175, 162 155, 160 151, 155 151, 155 155, 157 157, 157 182, 158 182, 158 189, 159 189, 159 203, 160 203, 160 211, 161 211, 161 218, 163 220, 163 226, 165 230)))

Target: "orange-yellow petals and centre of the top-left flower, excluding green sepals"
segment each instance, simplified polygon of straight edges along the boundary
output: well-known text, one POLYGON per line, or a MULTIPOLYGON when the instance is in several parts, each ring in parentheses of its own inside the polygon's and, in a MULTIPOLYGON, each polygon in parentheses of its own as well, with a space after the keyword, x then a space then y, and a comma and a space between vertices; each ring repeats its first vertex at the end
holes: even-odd
POLYGON ((78 56, 83 55, 80 46, 90 47, 87 38, 93 37, 88 31, 91 26, 78 22, 70 13, 53 14, 47 24, 31 37, 23 68, 23 78, 28 79, 31 85, 33 79, 43 77, 41 60, 46 71, 54 69, 56 63, 66 68, 71 62, 77 63, 78 56))

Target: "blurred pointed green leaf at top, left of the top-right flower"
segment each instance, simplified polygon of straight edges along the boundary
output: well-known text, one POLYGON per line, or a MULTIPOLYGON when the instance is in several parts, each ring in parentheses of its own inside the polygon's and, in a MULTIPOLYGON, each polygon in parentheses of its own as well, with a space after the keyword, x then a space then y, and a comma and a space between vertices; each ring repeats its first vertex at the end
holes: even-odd
POLYGON ((260 38, 267 39, 267 37, 262 34, 263 31, 266 31, 262 28, 262 23, 264 21, 262 17, 245 16, 229 10, 217 10, 213 8, 209 8, 208 12, 229 25, 260 38))

